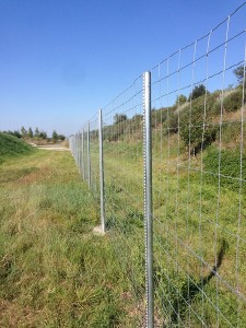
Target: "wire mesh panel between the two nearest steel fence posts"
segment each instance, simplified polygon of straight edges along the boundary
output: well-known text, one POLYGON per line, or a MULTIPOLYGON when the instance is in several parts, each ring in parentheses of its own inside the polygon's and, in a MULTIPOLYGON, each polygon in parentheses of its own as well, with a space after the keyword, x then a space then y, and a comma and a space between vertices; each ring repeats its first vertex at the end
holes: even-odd
POLYGON ((144 318, 142 77, 103 108, 106 230, 136 311, 144 318))

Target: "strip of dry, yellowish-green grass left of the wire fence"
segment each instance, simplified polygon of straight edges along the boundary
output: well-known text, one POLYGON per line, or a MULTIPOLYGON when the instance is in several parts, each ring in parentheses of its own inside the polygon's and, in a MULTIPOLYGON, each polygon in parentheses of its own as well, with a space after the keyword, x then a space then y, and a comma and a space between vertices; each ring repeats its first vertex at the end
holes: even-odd
POLYGON ((0 165, 0 327, 136 327, 110 238, 67 152, 0 165))

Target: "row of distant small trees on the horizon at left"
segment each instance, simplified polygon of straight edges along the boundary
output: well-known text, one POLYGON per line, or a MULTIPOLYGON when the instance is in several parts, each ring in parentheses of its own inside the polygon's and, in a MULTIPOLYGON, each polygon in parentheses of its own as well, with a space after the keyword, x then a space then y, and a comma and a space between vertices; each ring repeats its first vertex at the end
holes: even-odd
POLYGON ((8 130, 2 132, 25 140, 51 140, 54 142, 57 142, 58 140, 62 141, 66 139, 65 134, 60 134, 56 130, 52 131, 51 138, 48 138, 47 132, 44 130, 39 130, 37 127, 34 131, 31 127, 28 129, 25 129, 25 127, 21 127, 21 130, 8 130))

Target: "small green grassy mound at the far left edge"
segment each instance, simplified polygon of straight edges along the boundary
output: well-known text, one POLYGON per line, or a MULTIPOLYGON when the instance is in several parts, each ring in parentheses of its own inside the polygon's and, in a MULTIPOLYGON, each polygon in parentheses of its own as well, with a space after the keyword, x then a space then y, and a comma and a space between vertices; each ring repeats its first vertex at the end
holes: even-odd
POLYGON ((34 148, 16 137, 0 132, 0 163, 8 157, 34 152, 34 148))

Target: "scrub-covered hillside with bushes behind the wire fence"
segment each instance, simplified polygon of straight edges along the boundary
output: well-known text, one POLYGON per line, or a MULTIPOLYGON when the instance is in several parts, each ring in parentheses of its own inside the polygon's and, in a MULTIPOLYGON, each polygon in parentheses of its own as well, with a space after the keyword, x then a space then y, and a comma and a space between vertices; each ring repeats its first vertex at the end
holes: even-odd
MULTIPOLYGON (((179 133, 181 145, 192 154, 219 140, 227 148, 233 140, 242 138, 243 107, 245 99, 242 85, 212 93, 204 89, 196 97, 194 93, 189 98, 180 95, 173 106, 153 108, 152 128, 163 136, 179 133)), ((139 133, 141 129, 142 115, 127 118, 117 114, 114 124, 104 128, 104 138, 117 141, 132 132, 139 133)))

